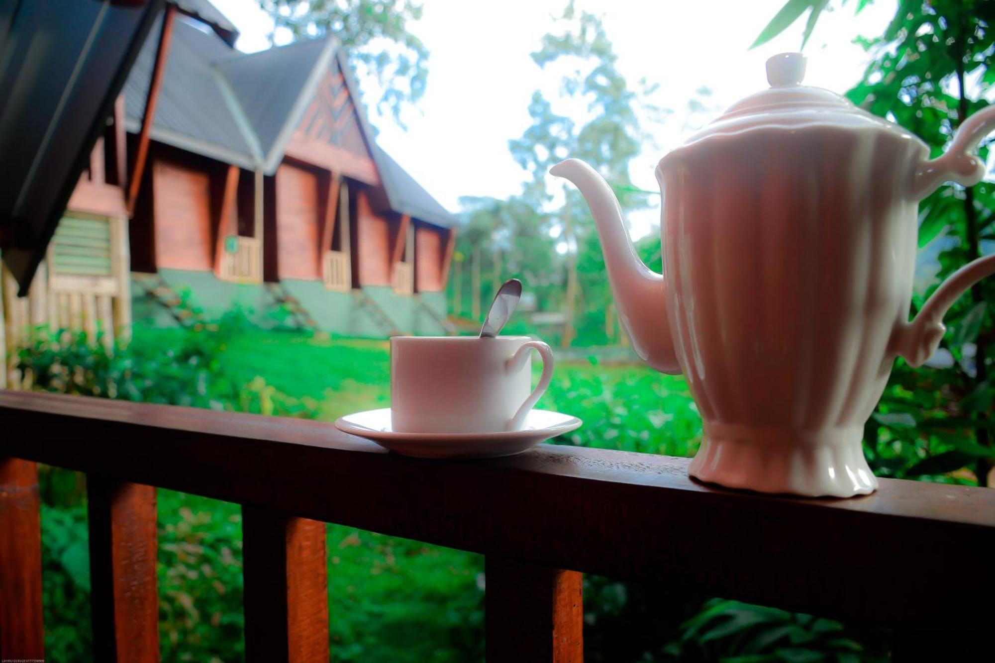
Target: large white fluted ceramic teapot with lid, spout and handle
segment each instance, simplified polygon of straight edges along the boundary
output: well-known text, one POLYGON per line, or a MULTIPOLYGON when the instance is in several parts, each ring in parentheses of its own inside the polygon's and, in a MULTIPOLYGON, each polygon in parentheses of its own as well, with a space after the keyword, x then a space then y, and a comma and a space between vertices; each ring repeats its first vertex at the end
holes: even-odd
POLYGON ((920 365, 950 305, 995 273, 952 275, 911 323, 920 199, 984 175, 971 155, 995 107, 929 160, 919 138, 801 85, 799 53, 767 61, 770 89, 742 100, 657 166, 664 274, 636 255, 608 184, 568 159, 597 224, 612 292, 639 355, 688 378, 702 481, 849 497, 878 486, 861 445, 896 355, 920 365))

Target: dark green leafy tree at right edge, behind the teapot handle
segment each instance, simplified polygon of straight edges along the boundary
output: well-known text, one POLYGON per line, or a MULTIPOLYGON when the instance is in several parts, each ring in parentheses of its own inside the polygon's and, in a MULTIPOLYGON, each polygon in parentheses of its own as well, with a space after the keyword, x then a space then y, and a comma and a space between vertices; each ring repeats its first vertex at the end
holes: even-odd
MULTIPOLYGON (((813 12, 825 5, 816 0, 801 4, 813 12)), ((862 0, 857 11, 867 4, 862 0)), ((966 117, 989 106, 986 93, 995 82, 993 20, 990 0, 899 0, 883 35, 858 39, 872 61, 847 96, 908 128, 929 145, 932 157, 938 156, 966 117)), ((980 146, 984 159, 990 142, 980 146)), ((918 219, 919 270, 933 274, 918 289, 913 310, 944 278, 991 251, 995 185, 942 186, 920 203, 918 219)), ((944 321, 948 331, 942 347, 927 366, 913 370, 897 361, 866 430, 868 454, 879 475, 946 475, 944 480, 988 484, 995 459, 995 388, 989 378, 995 329, 988 304, 993 298, 995 282, 988 279, 957 302, 944 321)))

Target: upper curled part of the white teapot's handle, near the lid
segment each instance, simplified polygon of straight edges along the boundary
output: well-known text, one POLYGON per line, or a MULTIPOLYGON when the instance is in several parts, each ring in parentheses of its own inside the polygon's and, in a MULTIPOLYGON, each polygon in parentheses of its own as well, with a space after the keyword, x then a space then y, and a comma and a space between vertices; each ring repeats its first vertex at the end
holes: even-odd
MULTIPOLYGON (((953 142, 942 156, 923 161, 915 168, 912 196, 921 200, 943 182, 974 186, 985 176, 985 163, 973 152, 981 139, 995 130, 995 106, 978 110, 964 120, 953 142)), ((956 299, 956 298, 954 298, 956 299)))

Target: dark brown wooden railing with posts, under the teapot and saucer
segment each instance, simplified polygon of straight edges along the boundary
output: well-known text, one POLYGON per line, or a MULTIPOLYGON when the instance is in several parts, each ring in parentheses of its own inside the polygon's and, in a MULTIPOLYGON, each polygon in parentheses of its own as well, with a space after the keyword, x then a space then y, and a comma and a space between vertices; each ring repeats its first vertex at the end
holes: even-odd
POLYGON ((101 662, 158 657, 153 486, 243 505, 250 663, 328 659, 322 522, 484 553, 492 663, 582 659, 581 572, 895 627, 896 659, 990 651, 985 585, 951 585, 991 575, 988 489, 768 497, 691 481, 683 458, 423 461, 327 423, 16 391, 0 421, 0 659, 44 657, 35 462, 87 474, 101 662))

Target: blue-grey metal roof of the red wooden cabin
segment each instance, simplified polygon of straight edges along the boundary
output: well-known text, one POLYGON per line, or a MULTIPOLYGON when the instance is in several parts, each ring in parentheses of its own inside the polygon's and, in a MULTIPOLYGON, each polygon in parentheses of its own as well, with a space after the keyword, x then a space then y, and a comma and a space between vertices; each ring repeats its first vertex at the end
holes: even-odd
MULTIPOLYGON (((209 15, 203 5, 213 9, 206 0, 172 1, 181 7, 184 3, 190 7, 201 5, 201 15, 209 15)), ((161 30, 160 18, 124 86, 125 114, 131 131, 138 130, 145 110, 161 30)), ((322 37, 243 54, 209 26, 178 16, 151 135, 160 142, 272 174, 321 75, 331 58, 337 57, 391 208, 444 228, 459 225, 456 216, 372 142, 373 132, 358 104, 355 82, 337 51, 335 39, 322 37)))

